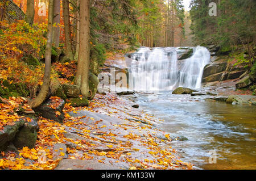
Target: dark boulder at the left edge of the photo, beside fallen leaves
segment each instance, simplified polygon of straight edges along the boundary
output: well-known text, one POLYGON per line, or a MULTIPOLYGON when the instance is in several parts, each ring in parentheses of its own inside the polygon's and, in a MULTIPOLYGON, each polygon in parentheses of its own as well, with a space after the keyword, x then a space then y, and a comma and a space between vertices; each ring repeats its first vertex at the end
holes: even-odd
POLYGON ((24 120, 15 121, 14 125, 7 125, 0 131, 0 151, 7 149, 9 142, 13 141, 19 128, 24 125, 24 120))

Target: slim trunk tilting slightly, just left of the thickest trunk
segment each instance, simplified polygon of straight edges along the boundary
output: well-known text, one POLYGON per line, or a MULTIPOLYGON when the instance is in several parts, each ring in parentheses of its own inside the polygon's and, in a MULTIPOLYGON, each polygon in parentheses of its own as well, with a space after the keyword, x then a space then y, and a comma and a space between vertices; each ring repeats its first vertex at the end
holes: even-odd
POLYGON ((64 16, 64 31, 65 31, 65 53, 70 60, 73 60, 71 27, 69 19, 69 1, 63 0, 63 16, 64 16))

